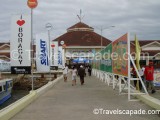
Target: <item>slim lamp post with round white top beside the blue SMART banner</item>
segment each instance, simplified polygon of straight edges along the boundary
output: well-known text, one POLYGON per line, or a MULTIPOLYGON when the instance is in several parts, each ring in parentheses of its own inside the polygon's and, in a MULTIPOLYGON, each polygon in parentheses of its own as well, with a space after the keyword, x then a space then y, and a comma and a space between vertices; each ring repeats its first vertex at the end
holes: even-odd
POLYGON ((47 23, 46 24, 46 29, 48 31, 48 41, 49 41, 49 54, 48 54, 48 57, 49 57, 49 77, 50 77, 50 80, 51 80, 51 53, 50 53, 50 49, 51 49, 51 41, 50 41, 50 30, 52 30, 52 24, 51 23, 47 23))

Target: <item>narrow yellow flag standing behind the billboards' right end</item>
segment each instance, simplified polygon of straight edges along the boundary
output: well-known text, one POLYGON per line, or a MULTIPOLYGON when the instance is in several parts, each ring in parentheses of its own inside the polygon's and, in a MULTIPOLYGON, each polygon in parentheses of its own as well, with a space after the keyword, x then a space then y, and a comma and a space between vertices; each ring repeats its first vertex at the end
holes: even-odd
POLYGON ((141 47, 139 45, 136 35, 135 35, 135 47, 136 47, 136 67, 139 70, 140 69, 139 61, 140 61, 141 47))

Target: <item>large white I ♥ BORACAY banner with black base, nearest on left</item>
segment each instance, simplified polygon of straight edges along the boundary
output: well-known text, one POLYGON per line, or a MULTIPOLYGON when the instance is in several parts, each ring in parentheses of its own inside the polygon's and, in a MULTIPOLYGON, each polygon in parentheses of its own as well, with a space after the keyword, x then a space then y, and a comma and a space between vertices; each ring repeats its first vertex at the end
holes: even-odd
POLYGON ((11 74, 31 74, 31 16, 14 15, 11 21, 11 74))

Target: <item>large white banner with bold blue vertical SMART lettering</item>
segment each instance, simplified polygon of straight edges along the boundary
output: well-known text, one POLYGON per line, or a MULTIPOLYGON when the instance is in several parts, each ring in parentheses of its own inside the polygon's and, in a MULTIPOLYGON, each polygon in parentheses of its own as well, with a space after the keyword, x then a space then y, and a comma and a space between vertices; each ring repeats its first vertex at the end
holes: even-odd
POLYGON ((36 65, 38 72, 49 72, 48 57, 48 35, 47 33, 36 35, 36 65))

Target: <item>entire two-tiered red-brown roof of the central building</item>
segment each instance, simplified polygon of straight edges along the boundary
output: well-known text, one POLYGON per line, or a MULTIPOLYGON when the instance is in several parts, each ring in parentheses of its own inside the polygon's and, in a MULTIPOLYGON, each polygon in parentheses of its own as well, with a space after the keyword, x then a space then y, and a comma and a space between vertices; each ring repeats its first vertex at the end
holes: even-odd
POLYGON ((111 41, 101 35, 95 33, 94 29, 82 22, 79 22, 67 29, 67 33, 56 38, 59 45, 64 41, 66 46, 107 46, 111 41))

